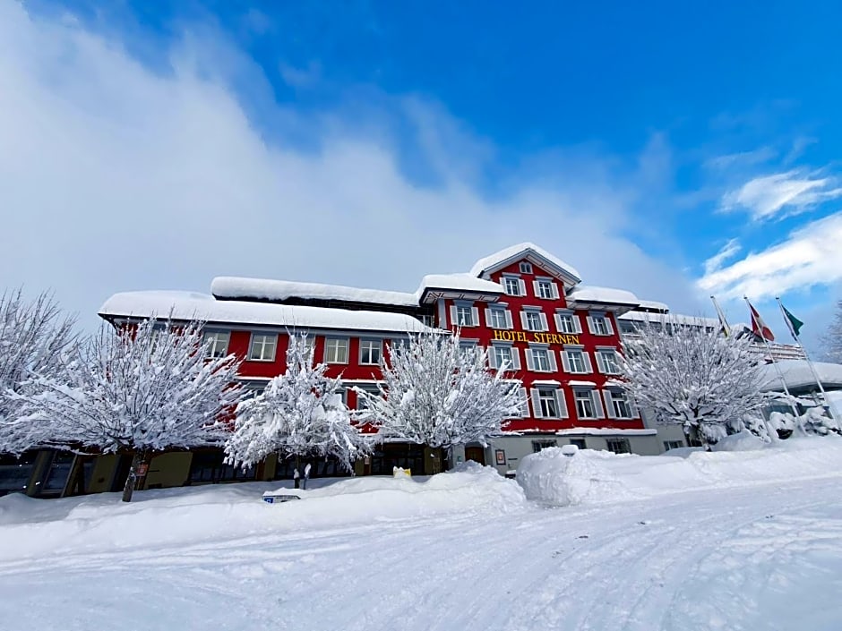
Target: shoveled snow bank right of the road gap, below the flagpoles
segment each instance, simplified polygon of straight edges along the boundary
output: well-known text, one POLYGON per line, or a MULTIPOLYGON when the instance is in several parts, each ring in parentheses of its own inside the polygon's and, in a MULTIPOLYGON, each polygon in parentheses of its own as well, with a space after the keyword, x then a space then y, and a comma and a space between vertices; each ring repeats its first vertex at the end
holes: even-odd
POLYGON ((585 449, 565 456, 561 448, 546 448, 520 462, 517 480, 528 499, 575 506, 803 480, 842 470, 842 439, 836 436, 768 446, 738 434, 714 452, 672 453, 636 456, 585 449))

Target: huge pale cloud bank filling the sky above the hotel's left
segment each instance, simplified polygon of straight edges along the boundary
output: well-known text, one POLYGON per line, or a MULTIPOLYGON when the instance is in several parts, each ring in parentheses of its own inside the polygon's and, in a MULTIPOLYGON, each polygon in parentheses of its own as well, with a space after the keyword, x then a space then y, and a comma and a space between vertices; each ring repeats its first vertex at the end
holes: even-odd
POLYGON ((0 3, 0 286, 55 287, 90 324, 116 291, 208 291, 221 274, 414 290, 529 240, 588 283, 692 303, 680 272, 621 235, 633 196, 616 182, 555 166, 489 198, 475 177, 493 155, 485 141, 454 138, 465 132, 445 113, 402 98, 392 105, 425 159, 451 174, 435 186, 408 178, 399 140, 365 117, 271 103, 281 131, 315 140, 267 139, 229 88, 243 60, 209 63, 200 44, 185 39, 155 72, 73 21, 0 3))

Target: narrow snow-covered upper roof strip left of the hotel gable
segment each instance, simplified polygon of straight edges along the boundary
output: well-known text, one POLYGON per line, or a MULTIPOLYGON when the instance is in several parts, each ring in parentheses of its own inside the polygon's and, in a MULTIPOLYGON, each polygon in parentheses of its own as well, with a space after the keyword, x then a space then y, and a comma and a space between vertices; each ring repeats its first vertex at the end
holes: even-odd
POLYGON ((225 299, 256 298, 282 301, 288 298, 303 298, 341 300, 349 303, 394 304, 402 307, 418 305, 417 295, 405 292, 232 276, 214 278, 211 282, 211 294, 225 299))

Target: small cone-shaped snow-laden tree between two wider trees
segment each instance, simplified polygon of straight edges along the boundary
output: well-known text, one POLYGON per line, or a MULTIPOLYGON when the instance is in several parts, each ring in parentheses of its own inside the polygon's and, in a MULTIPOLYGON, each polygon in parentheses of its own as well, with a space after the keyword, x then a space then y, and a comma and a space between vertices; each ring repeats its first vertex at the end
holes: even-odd
POLYGON ((333 456, 350 471, 371 453, 339 394, 341 380, 326 376, 327 364, 314 366, 313 354, 305 334, 289 336, 286 371, 236 408, 236 428, 225 446, 229 464, 250 467, 274 453, 333 456))

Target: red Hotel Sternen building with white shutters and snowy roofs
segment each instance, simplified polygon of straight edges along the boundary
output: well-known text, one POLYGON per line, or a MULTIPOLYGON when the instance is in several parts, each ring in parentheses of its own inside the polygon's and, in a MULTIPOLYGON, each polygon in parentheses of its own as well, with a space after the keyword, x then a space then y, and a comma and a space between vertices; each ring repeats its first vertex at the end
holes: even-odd
MULTIPOLYGON (((170 312, 176 320, 206 320, 211 353, 242 356, 242 379, 258 391, 284 371, 289 332, 305 330, 316 361, 341 376, 351 409, 357 407, 354 388, 376 389, 391 340, 430 327, 460 327, 461 343, 487 348, 491 367, 510 362, 522 405, 490 448, 457 449, 457 462, 472 459, 505 473, 549 445, 661 451, 656 431, 607 383, 617 372, 617 317, 643 302, 627 291, 581 285, 575 269, 532 243, 478 260, 468 273, 426 276, 414 294, 237 277, 215 278, 211 293, 115 294, 99 315, 114 324, 170 312)), ((182 456, 190 463, 179 465, 182 473, 161 473, 161 485, 241 475, 222 465, 218 452, 182 456)), ((357 464, 357 473, 391 473, 394 465, 430 472, 440 468, 434 459, 441 456, 386 442, 357 464)), ((334 473, 325 466, 322 474, 334 473)), ((155 471, 153 463, 148 484, 155 485, 155 471)), ((287 463, 271 462, 255 474, 277 479, 290 473, 287 463)))

